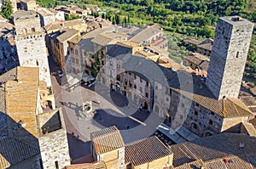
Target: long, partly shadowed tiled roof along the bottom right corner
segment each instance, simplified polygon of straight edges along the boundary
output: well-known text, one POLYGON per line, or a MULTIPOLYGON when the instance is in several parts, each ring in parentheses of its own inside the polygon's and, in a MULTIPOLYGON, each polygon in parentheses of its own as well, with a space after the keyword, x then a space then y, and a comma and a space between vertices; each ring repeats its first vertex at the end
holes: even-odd
POLYGON ((246 134, 221 133, 195 139, 191 143, 171 145, 170 149, 173 152, 173 166, 181 166, 200 159, 212 161, 230 155, 256 155, 256 138, 246 134), (239 147, 241 142, 245 144, 243 149, 239 147))

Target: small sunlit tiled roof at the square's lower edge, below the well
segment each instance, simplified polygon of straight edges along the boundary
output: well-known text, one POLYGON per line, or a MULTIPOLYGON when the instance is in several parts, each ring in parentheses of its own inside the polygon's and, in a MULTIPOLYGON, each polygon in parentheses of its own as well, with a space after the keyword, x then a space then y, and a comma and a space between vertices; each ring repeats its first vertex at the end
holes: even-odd
POLYGON ((96 132, 91 132, 90 138, 94 144, 97 155, 125 146, 117 127, 108 127, 96 132))

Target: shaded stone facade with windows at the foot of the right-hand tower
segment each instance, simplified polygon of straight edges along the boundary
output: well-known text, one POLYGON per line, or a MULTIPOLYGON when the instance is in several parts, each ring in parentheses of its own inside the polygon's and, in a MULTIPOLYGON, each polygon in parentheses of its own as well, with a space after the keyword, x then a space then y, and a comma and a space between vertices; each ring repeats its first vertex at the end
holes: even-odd
POLYGON ((174 91, 172 91, 170 116, 172 116, 173 129, 183 125, 201 137, 221 132, 224 122, 224 118, 220 115, 174 91))

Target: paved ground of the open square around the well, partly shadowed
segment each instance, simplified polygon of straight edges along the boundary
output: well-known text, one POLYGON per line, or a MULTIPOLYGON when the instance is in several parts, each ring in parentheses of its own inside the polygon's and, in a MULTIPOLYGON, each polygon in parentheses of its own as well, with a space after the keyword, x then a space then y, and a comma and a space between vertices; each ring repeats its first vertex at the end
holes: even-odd
MULTIPOLYGON (((50 69, 55 66, 52 63, 49 65, 50 69)), ((58 70, 54 68, 53 70, 58 70)), ((61 86, 60 77, 51 76, 51 81, 55 92, 55 104, 63 111, 70 155, 73 159, 90 154, 90 132, 115 125, 119 128, 125 143, 130 143, 151 136, 163 121, 154 113, 139 110, 138 105, 132 100, 117 93, 110 93, 109 88, 96 86, 94 92, 79 86, 70 93, 67 92, 65 85, 61 86), (85 101, 92 101, 94 106, 98 107, 94 118, 87 121, 79 120, 77 116, 85 101), (128 105, 125 105, 127 103, 128 105)))

